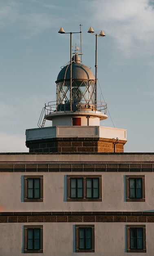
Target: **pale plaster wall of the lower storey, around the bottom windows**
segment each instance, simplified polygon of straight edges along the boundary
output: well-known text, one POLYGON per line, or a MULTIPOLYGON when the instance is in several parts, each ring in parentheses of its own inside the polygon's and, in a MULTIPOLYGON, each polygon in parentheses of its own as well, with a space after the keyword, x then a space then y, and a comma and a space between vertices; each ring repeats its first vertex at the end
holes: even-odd
MULTIPOLYGON (((24 225, 34 223, 0 223, 0 256, 20 256, 24 248, 24 225)), ((75 225, 81 222, 39 222, 43 225, 44 256, 73 256, 75 254, 75 225)), ((147 252, 142 256, 154 255, 154 223, 84 222, 95 225, 95 256, 128 256, 126 252, 126 225, 145 224, 147 252)), ((35 254, 26 254, 32 256, 35 254)), ((87 256, 87 253, 77 253, 87 256)), ((88 255, 93 255, 89 253, 88 255)), ((129 253, 135 256, 136 253, 129 253)), ((139 255, 139 254, 138 254, 139 255)))

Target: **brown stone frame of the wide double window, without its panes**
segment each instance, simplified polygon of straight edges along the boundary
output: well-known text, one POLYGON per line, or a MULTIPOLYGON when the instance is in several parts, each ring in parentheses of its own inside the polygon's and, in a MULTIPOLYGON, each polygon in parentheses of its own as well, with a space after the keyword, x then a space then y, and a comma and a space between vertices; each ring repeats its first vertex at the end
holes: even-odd
POLYGON ((67 201, 70 202, 101 202, 102 201, 102 175, 67 175, 67 201), (71 198, 71 179, 83 179, 83 197, 82 198, 71 198), (99 196, 98 198, 87 198, 86 197, 86 180, 88 178, 99 179, 99 196))

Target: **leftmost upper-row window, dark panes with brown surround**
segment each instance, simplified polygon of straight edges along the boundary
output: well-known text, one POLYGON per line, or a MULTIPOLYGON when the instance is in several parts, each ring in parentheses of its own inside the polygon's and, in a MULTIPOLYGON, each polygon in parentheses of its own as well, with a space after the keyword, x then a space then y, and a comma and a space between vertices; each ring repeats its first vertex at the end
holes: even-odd
POLYGON ((24 176, 24 202, 43 202, 43 175, 24 176))

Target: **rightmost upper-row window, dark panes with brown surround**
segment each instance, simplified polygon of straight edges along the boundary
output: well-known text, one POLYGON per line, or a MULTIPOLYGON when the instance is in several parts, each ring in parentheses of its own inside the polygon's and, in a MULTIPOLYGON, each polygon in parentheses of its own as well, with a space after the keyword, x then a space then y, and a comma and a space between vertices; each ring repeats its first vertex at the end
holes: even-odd
POLYGON ((145 202, 145 175, 126 175, 126 201, 145 202))

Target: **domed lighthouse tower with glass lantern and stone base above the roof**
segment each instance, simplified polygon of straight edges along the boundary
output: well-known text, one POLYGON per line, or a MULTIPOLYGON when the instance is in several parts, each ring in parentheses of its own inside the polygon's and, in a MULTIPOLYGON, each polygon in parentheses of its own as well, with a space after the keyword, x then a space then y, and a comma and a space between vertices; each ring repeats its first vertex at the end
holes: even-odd
MULTIPOLYGON (((94 33, 92 27, 88 32, 94 33)), ((65 33, 62 27, 59 33, 65 33)), ((57 75, 56 101, 45 104, 39 128, 26 130, 26 146, 30 153, 123 152, 127 130, 100 126, 108 115, 107 103, 97 100, 97 52, 94 75, 82 63, 78 47, 72 53, 73 32, 66 34, 70 34, 70 61, 57 75), (46 120, 52 126, 45 127, 46 120)), ((100 36, 105 36, 103 31, 100 36)))

